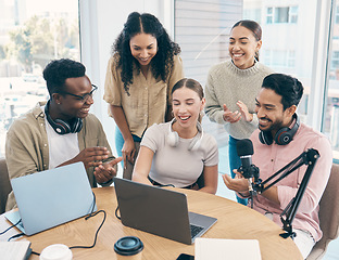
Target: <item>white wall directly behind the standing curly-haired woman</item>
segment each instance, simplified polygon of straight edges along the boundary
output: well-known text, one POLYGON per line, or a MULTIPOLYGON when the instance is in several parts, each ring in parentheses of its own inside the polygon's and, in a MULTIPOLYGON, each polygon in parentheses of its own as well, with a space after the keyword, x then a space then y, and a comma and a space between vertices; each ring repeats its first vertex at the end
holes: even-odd
POLYGON ((123 29, 129 13, 148 12, 155 15, 170 35, 173 35, 173 0, 80 0, 81 62, 92 83, 99 87, 95 95, 95 113, 101 120, 108 140, 115 151, 115 123, 108 116, 108 104, 102 100, 106 64, 111 47, 123 29))

